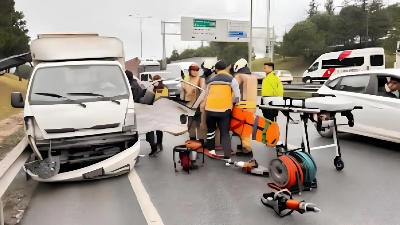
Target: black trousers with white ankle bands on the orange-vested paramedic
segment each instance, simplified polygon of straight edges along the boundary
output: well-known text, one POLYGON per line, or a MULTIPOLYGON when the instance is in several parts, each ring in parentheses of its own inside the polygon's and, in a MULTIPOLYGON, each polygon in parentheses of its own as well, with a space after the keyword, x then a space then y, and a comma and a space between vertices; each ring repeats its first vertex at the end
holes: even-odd
POLYGON ((207 113, 207 148, 208 150, 215 149, 215 130, 220 129, 220 140, 222 149, 224 149, 225 157, 230 158, 231 156, 231 145, 230 145, 230 135, 229 135, 229 123, 232 112, 212 112, 207 113), (211 114, 211 115, 209 115, 211 114))

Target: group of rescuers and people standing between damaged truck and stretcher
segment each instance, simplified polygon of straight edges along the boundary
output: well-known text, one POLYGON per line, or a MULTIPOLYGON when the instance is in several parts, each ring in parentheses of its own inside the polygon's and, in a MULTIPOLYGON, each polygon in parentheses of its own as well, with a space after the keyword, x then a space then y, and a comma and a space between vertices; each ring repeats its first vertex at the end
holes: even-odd
MULTIPOLYGON (((193 63, 189 66, 188 77, 185 77, 186 82, 181 82, 182 92, 180 99, 185 102, 194 103, 200 96, 200 89, 206 90, 206 95, 200 106, 198 106, 194 116, 188 118, 188 133, 190 140, 206 140, 205 147, 209 150, 214 150, 216 145, 216 131, 219 130, 219 140, 224 150, 224 160, 227 163, 231 162, 231 141, 229 133, 229 124, 232 115, 232 108, 240 101, 250 100, 256 102, 257 88, 247 88, 252 81, 248 77, 254 76, 247 67, 247 61, 240 59, 236 64, 229 66, 222 60, 215 62, 205 61, 201 65, 203 75, 199 76, 200 66, 193 63), (242 66, 240 66, 242 64, 242 66), (240 66, 240 68, 238 68, 240 66), (190 85, 190 84, 193 85, 190 85)), ((274 70, 273 63, 264 65, 266 77, 262 81, 263 96, 283 96, 283 86, 279 78, 272 72, 274 70)), ((137 96, 143 91, 137 80, 133 78, 132 72, 126 70, 132 94, 135 102, 141 102, 142 98, 137 96)), ((159 75, 152 77, 153 84, 152 92, 154 98, 158 98, 164 90, 162 79, 159 75)), ((254 78, 256 86, 256 78, 254 78)), ((168 94, 167 94, 168 95, 168 94)), ((153 99, 154 101, 155 99, 153 99)), ((254 103, 255 110, 255 103, 254 103)), ((274 120, 277 116, 277 111, 262 110, 265 118, 274 120)), ((162 150, 162 131, 151 131, 146 134, 146 141, 150 144, 150 156, 156 155, 162 150)), ((251 151, 250 140, 249 145, 244 145, 251 151)), ((246 152, 246 151, 244 151, 246 152)))

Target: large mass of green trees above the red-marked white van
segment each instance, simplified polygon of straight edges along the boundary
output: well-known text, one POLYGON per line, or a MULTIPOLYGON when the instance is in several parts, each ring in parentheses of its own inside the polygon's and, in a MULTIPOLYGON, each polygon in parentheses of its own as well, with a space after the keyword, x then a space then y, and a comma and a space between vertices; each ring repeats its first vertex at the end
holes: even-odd
POLYGON ((394 52, 400 40, 399 3, 385 7, 382 0, 344 0, 341 5, 335 13, 334 1, 326 0, 324 11, 319 11, 320 4, 311 0, 308 18, 284 35, 281 54, 315 57, 328 51, 378 46, 394 52))

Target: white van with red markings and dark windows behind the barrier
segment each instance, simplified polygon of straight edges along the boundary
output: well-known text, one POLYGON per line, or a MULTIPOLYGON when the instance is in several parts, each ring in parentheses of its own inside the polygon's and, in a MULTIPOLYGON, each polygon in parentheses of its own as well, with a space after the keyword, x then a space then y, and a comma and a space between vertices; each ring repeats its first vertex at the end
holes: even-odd
POLYGON ((304 71, 302 81, 325 82, 332 74, 384 69, 383 48, 362 48, 322 54, 304 71))

